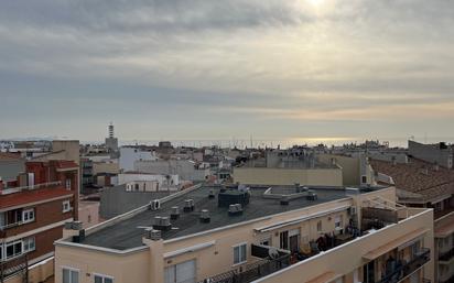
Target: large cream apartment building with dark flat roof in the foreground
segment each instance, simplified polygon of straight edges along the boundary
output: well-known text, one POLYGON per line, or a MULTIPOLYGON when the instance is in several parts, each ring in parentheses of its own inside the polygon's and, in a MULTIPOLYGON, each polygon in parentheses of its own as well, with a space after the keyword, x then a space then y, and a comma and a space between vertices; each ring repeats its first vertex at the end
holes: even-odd
POLYGON ((65 226, 56 283, 433 282, 433 210, 393 186, 203 186, 65 226))

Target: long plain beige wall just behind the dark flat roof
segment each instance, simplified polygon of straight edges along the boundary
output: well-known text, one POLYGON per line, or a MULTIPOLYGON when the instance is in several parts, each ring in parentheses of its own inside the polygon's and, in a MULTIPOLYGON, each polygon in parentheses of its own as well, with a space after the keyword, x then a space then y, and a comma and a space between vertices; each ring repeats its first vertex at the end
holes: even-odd
POLYGON ((248 185, 342 186, 340 168, 234 167, 234 182, 248 185))

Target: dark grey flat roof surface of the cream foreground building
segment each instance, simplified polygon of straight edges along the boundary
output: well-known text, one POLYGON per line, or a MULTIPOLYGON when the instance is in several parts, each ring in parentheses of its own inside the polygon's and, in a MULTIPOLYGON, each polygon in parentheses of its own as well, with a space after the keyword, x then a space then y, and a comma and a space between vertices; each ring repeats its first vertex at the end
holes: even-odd
MULTIPOLYGON (((378 191, 380 188, 383 187, 359 189, 359 193, 378 191)), ((299 197, 291 199, 289 205, 281 205, 280 199, 263 197, 263 193, 267 189, 269 189, 269 187, 251 187, 250 202, 244 207, 242 215, 229 216, 228 207, 218 207, 218 194, 220 187, 202 186, 161 204, 161 208, 159 210, 147 209, 114 225, 106 225, 105 228, 101 227, 99 230, 91 233, 88 232, 80 243, 117 250, 127 250, 140 247, 142 246, 144 229, 153 226, 154 217, 156 216, 170 217, 173 206, 180 207, 180 218, 176 220, 171 220, 172 229, 162 232, 162 238, 164 240, 180 238, 228 225, 240 224, 266 216, 272 216, 280 213, 349 197, 349 195, 347 195, 347 191, 343 187, 310 187, 311 191, 313 189, 316 192, 316 200, 309 200, 305 197, 299 197), (216 197, 208 197, 210 189, 214 189, 216 197), (185 199, 194 200, 194 211, 183 211, 185 199), (201 222, 199 220, 202 209, 209 210, 210 221, 207 224, 201 222)), ((288 192, 292 192, 292 189, 290 187, 272 188, 272 194, 288 194, 288 192)))

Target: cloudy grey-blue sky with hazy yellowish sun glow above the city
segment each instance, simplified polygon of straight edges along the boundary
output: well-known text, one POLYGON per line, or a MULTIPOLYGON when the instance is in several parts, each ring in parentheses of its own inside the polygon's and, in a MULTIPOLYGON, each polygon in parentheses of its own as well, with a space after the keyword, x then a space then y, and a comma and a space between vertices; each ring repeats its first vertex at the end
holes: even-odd
POLYGON ((1 1, 0 139, 454 141, 452 26, 450 0, 1 1))

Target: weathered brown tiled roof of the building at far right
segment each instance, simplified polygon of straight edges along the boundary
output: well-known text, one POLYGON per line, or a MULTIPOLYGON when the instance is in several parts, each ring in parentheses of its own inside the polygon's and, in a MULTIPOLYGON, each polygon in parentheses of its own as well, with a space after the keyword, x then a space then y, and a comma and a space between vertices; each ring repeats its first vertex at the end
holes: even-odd
MULTIPOLYGON (((424 202, 436 197, 454 194, 454 171, 440 167, 415 159, 409 159, 409 163, 392 164, 387 161, 370 160, 376 172, 391 176, 396 187, 407 191, 408 198, 421 195, 424 202)), ((420 199, 422 200, 422 199, 420 199)))

